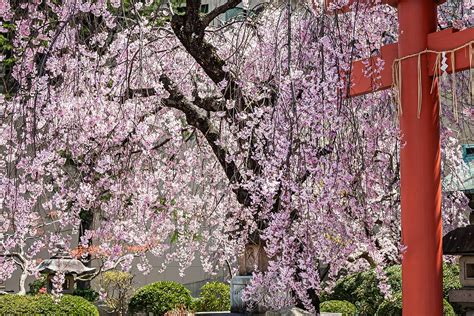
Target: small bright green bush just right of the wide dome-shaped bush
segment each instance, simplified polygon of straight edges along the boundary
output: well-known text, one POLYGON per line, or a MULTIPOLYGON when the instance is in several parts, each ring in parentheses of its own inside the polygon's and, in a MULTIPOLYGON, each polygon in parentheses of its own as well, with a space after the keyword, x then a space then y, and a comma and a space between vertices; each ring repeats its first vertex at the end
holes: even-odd
POLYGON ((230 286, 221 282, 209 282, 201 288, 199 299, 191 308, 198 312, 230 310, 230 286))

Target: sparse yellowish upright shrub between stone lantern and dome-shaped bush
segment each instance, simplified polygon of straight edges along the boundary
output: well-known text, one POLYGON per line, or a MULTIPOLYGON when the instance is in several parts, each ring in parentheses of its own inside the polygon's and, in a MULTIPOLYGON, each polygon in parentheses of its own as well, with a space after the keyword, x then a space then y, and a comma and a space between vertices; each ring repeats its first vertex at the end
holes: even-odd
POLYGON ((100 287, 104 302, 111 312, 125 315, 128 302, 133 294, 133 275, 128 272, 111 270, 101 274, 100 287))

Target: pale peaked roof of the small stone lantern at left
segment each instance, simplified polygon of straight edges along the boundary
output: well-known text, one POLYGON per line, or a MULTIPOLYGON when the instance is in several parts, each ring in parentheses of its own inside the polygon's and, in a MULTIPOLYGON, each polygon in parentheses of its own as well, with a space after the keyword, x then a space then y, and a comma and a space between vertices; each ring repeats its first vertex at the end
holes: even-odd
POLYGON ((44 260, 38 265, 40 273, 55 274, 61 271, 65 274, 74 274, 77 276, 92 274, 95 268, 86 267, 81 261, 73 258, 63 245, 57 245, 58 251, 54 256, 44 260))

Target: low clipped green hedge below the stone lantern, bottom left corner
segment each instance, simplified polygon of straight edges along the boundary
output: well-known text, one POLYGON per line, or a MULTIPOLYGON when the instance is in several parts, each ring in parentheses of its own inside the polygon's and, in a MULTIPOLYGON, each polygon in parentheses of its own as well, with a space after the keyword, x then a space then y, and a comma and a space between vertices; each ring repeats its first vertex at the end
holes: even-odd
POLYGON ((0 315, 99 316, 97 308, 79 296, 63 295, 58 303, 49 294, 0 295, 0 315))

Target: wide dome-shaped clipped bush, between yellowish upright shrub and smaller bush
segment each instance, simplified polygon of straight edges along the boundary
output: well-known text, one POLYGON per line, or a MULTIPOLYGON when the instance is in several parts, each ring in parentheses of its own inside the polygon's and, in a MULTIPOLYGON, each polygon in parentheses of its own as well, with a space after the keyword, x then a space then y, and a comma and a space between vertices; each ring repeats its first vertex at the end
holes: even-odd
POLYGON ((132 296, 129 308, 132 313, 152 312, 157 316, 162 316, 179 305, 189 307, 191 300, 190 291, 183 285, 162 281, 140 288, 132 296))

